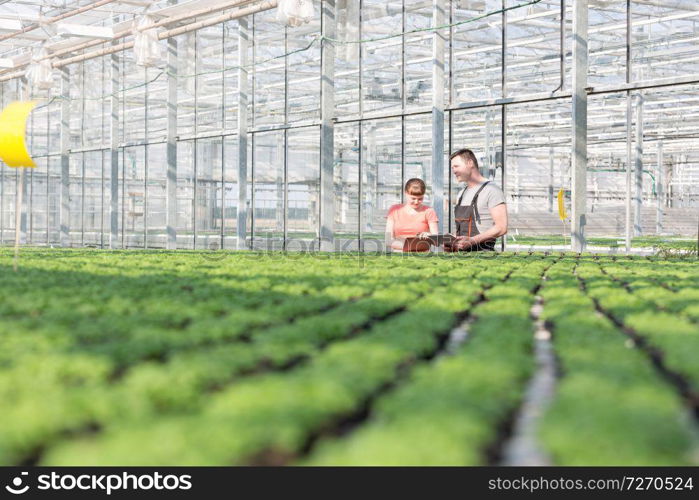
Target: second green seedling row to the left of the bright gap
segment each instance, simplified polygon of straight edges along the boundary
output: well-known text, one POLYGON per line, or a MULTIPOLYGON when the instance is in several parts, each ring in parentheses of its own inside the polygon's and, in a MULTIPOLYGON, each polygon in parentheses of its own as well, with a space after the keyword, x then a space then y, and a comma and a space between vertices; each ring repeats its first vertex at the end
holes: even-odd
POLYGON ((302 453, 313 435, 356 415, 406 367, 438 350, 456 314, 476 300, 488 280, 502 279, 514 265, 488 269, 479 282, 469 279, 467 266, 452 268, 441 282, 423 283, 425 295, 411 300, 405 311, 374 323, 362 335, 333 342, 307 363, 284 373, 243 378, 196 412, 123 425, 115 420, 100 434, 49 448, 42 463, 288 461, 302 453))

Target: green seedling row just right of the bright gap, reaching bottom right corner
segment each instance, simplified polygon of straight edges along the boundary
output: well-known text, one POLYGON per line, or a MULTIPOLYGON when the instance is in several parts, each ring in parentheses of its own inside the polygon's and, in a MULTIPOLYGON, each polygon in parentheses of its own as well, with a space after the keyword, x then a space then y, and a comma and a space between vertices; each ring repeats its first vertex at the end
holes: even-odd
MULTIPOLYGON (((647 356, 596 313, 573 274, 591 279, 594 264, 575 266, 555 264, 540 292, 561 372, 540 424, 544 448, 566 466, 691 463, 691 423, 681 399, 647 356)), ((596 276, 598 286, 608 281, 596 276)))

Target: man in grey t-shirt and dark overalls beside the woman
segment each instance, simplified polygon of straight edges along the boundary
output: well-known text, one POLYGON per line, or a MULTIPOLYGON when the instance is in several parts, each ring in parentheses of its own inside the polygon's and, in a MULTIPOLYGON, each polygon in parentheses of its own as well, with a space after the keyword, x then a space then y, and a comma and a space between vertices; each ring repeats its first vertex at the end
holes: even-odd
POLYGON ((507 233, 507 205, 498 186, 478 170, 478 160, 470 149, 450 156, 451 171, 457 182, 465 182, 454 207, 456 240, 446 251, 493 251, 496 238, 507 233))

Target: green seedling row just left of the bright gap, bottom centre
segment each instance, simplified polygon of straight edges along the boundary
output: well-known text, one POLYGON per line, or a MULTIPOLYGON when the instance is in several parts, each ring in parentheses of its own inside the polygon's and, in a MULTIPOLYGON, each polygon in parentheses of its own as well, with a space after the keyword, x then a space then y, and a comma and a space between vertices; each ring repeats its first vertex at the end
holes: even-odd
POLYGON ((519 266, 471 311, 467 341, 380 398, 366 425, 328 437, 310 465, 483 465, 497 459, 534 362, 530 309, 550 260, 519 266))

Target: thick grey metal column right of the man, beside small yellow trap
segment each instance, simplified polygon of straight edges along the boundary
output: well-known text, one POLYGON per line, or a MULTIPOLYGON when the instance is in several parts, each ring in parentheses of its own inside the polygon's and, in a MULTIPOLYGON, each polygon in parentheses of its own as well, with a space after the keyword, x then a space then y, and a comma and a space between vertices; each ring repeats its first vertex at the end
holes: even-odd
POLYGON ((573 172, 571 178, 571 247, 585 251, 587 204, 587 5, 573 5, 573 172))

